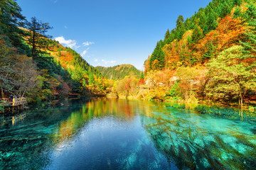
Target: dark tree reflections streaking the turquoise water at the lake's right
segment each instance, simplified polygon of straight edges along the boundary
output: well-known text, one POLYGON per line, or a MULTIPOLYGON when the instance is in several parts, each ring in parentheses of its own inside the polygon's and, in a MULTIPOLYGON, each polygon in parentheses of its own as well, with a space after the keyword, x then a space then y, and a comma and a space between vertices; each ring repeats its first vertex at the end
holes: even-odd
MULTIPOLYGON (((172 104, 165 106, 164 103, 149 106, 146 110, 150 110, 150 113, 142 114, 142 125, 156 148, 169 159, 174 159, 178 169, 256 167, 256 136, 247 131, 255 126, 196 114, 207 113, 218 117, 224 114, 221 118, 228 118, 228 113, 230 115, 234 110, 172 104)), ((230 115, 230 119, 237 118, 240 113, 235 114, 230 115)))

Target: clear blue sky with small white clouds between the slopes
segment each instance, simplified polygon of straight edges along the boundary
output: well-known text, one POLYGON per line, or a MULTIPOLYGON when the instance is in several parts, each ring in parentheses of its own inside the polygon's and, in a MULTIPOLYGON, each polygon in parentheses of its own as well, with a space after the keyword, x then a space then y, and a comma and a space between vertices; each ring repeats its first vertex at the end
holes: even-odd
POLYGON ((22 13, 50 23, 48 34, 92 66, 133 64, 143 69, 156 42, 179 15, 190 17, 209 0, 18 0, 22 13))

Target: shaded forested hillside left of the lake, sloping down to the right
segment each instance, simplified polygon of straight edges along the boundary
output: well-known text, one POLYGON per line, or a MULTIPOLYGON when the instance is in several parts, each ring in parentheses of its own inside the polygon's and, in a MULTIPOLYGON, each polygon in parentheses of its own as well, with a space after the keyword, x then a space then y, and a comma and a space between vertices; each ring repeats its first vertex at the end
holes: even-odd
POLYGON ((105 95, 105 78, 74 50, 50 35, 48 23, 30 21, 15 0, 0 1, 1 98, 27 96, 50 100, 71 93, 105 95))

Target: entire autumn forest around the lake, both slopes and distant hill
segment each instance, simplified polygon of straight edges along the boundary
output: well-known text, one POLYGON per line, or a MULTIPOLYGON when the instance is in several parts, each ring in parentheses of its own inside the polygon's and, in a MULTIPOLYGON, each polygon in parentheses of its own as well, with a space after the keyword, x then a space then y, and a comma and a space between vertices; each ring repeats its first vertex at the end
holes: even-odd
POLYGON ((255 3, 213 0, 186 20, 178 16, 139 72, 130 64, 92 67, 46 35, 48 23, 28 21, 15 0, 1 1, 1 98, 80 94, 254 108, 255 3))

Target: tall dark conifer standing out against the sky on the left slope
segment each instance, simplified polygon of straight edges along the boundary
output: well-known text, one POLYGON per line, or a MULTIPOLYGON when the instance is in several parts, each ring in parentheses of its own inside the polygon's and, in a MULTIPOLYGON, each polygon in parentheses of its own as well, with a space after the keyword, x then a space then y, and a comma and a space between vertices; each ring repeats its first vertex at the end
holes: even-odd
POLYGON ((47 38, 50 38, 50 35, 46 35, 49 29, 52 29, 48 23, 42 23, 38 21, 36 17, 32 17, 31 21, 26 22, 27 42, 32 47, 32 56, 36 58, 36 52, 45 50, 48 48, 49 42, 47 38))

